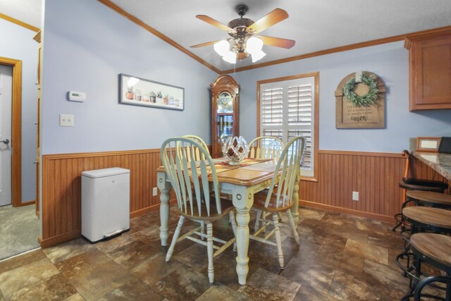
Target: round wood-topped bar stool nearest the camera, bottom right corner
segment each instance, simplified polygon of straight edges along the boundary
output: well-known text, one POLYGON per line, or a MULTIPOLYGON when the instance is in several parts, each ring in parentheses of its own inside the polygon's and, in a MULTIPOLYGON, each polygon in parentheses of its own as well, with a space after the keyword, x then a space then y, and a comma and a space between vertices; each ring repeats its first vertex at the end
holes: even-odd
POLYGON ((414 300, 419 301, 421 297, 429 297, 438 300, 451 300, 451 237, 433 233, 416 233, 410 238, 410 246, 414 254, 415 278, 409 293, 402 297, 408 300, 414 296, 414 300), (441 271, 445 271, 446 276, 428 276, 420 280, 421 264, 434 266, 441 271), (435 283, 445 283, 446 288, 435 283), (422 290, 426 285, 445 290, 445 298, 431 294, 423 294, 422 290))

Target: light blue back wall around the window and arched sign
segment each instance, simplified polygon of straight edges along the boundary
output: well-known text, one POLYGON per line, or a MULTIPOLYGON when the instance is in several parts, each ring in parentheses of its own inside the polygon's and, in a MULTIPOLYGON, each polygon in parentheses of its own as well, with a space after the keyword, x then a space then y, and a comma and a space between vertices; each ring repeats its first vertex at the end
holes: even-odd
POLYGON ((232 75, 241 85, 240 132, 257 135, 257 81, 319 71, 319 149, 396 152, 409 149, 409 137, 451 136, 451 110, 409 112, 408 51, 403 42, 316 56, 232 75), (336 129, 335 90, 346 75, 368 70, 387 87, 385 128, 336 129))

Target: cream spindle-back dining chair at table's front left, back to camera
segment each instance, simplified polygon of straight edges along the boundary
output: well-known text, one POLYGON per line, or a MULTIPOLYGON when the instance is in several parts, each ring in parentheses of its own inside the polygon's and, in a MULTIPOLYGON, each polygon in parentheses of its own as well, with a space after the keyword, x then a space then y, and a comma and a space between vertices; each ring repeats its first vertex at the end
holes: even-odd
MULTIPOLYGON (((163 142, 161 146, 161 161, 170 180, 177 198, 180 219, 175 228, 171 246, 166 254, 166 262, 171 259, 175 243, 185 238, 206 245, 208 257, 208 274, 210 283, 214 282, 214 257, 221 254, 232 245, 236 238, 225 241, 213 237, 214 221, 229 215, 233 233, 236 234, 236 223, 233 203, 221 199, 219 195, 219 183, 213 159, 207 149, 201 143, 187 137, 174 137, 163 142), (198 149, 199 154, 205 158, 202 161, 190 160, 190 154, 198 149), (185 219, 204 222, 206 234, 199 232, 201 226, 180 236, 185 219), (199 239, 201 238, 201 239, 199 239), (202 240, 206 238, 206 241, 202 240), (213 241, 223 244, 221 247, 214 245, 213 241), (216 250, 216 252, 213 252, 216 250)), ((235 235, 234 235, 235 236, 235 235)))

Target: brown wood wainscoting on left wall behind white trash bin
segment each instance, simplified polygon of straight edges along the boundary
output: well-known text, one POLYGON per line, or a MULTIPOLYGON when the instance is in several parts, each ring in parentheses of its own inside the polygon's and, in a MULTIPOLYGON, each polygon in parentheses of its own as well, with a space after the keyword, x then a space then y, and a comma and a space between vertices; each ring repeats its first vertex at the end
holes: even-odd
POLYGON ((156 168, 161 166, 160 149, 49 154, 42 156, 42 164, 42 245, 80 235, 82 171, 130 169, 130 216, 159 208, 159 194, 152 196, 152 188, 156 187, 156 168))

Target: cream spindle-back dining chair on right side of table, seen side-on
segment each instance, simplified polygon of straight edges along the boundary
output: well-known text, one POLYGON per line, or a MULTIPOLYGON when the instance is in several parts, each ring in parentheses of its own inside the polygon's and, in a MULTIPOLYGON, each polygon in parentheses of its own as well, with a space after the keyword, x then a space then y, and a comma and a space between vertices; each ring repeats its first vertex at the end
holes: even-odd
POLYGON ((274 228, 270 233, 268 233, 268 235, 265 235, 264 238, 258 236, 266 229, 269 223, 271 223, 271 221, 268 221, 253 235, 250 235, 250 238, 252 240, 264 242, 268 245, 275 245, 277 247, 277 257, 280 264, 280 269, 284 268, 284 262, 278 213, 285 212, 287 214, 288 221, 290 222, 290 226, 293 231, 293 236, 295 237, 297 245, 300 245, 295 220, 291 214, 291 207, 294 204, 294 199, 292 197, 293 190, 295 185, 298 185, 297 175, 299 174, 304 145, 304 137, 293 137, 292 140, 288 142, 285 149, 283 149, 283 152, 280 154, 280 158, 277 162, 276 170, 280 170, 280 173, 274 173, 271 180, 271 185, 268 189, 254 195, 253 207, 261 211, 270 212, 272 214, 272 224, 274 228), (272 235, 276 236, 276 242, 268 240, 268 238, 272 235))

